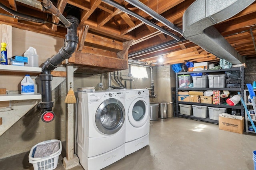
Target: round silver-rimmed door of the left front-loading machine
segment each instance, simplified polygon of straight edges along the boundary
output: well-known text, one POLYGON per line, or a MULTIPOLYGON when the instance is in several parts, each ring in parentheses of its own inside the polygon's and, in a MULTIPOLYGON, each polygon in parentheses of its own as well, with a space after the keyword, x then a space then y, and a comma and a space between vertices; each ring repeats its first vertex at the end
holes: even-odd
POLYGON ((108 99, 98 107, 95 122, 102 133, 112 135, 121 129, 124 117, 125 111, 122 102, 117 99, 108 99))

